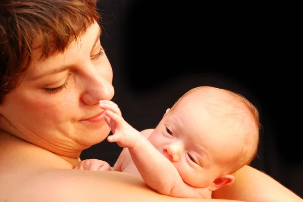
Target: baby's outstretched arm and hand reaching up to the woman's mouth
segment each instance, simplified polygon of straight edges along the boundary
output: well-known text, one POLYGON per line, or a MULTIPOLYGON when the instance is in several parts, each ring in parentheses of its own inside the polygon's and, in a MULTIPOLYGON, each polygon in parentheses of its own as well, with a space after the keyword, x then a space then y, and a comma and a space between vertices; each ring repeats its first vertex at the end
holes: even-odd
POLYGON ((106 109, 105 119, 113 132, 108 141, 128 148, 141 177, 150 188, 175 197, 201 197, 194 187, 183 182, 173 164, 123 119, 114 102, 103 100, 99 104, 106 109))

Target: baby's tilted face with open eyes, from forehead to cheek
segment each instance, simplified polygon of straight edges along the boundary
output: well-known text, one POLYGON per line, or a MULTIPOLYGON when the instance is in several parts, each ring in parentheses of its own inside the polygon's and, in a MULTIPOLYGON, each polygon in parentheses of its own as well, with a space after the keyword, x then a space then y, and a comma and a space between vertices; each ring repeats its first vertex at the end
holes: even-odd
POLYGON ((234 151, 222 121, 206 106, 187 101, 169 111, 148 140, 174 164, 184 182, 207 187, 222 174, 221 159, 234 151), (226 150, 228 144, 231 147, 226 150))

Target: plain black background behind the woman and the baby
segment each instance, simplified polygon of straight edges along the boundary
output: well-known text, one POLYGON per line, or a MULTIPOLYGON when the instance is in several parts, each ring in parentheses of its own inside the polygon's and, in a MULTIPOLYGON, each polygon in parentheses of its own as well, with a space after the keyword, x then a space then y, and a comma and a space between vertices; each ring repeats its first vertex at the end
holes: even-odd
MULTIPOLYGON (((293 27, 274 5, 101 0, 103 47, 126 121, 154 128, 189 89, 209 85, 242 94, 262 124, 251 166, 303 197, 300 68, 293 27)), ((122 148, 104 141, 81 158, 113 165, 122 148)))

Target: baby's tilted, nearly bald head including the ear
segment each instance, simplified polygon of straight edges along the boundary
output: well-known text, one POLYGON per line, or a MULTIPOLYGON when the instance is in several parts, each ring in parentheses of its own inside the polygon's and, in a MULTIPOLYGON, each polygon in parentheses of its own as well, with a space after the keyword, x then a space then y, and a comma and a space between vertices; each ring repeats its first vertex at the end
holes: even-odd
POLYGON ((239 94, 197 87, 167 110, 149 141, 186 183, 216 190, 232 183, 231 174, 255 157, 259 114, 239 94))

